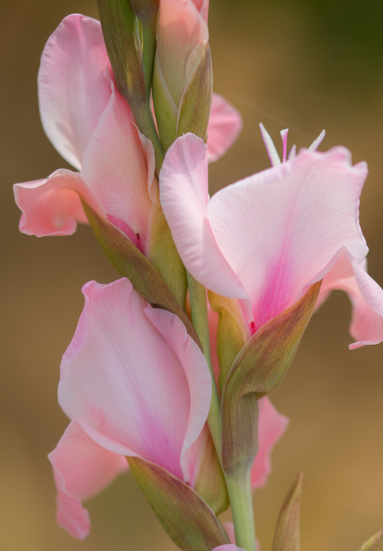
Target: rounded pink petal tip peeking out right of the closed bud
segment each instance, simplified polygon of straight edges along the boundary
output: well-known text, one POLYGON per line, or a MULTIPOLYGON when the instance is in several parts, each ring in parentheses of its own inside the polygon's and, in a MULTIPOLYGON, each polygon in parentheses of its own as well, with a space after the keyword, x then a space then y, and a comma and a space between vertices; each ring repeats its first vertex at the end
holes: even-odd
POLYGON ((207 127, 209 161, 213 163, 230 149, 242 129, 239 111, 219 94, 213 94, 212 110, 207 127))

